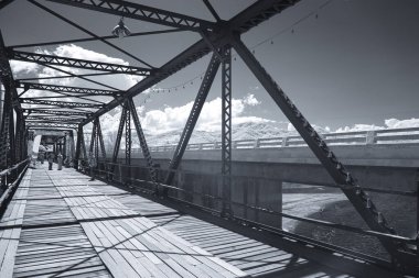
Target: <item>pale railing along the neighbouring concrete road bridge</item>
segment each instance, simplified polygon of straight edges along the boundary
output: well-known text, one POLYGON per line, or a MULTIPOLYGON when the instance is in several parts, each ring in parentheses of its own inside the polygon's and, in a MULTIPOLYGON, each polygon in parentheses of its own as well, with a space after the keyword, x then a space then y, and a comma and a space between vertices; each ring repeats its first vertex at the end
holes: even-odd
MULTIPOLYGON (((336 132, 321 134, 329 145, 373 145, 373 144, 419 144, 419 127, 373 130, 357 132, 336 132)), ((236 140, 233 148, 268 148, 268 147, 299 147, 305 146, 301 136, 268 137, 257 140, 236 140)), ((173 152, 176 145, 150 146, 150 152, 173 152)), ((222 142, 192 143, 186 151, 221 149, 222 142)), ((140 153, 140 148, 132 148, 132 153, 140 153)))

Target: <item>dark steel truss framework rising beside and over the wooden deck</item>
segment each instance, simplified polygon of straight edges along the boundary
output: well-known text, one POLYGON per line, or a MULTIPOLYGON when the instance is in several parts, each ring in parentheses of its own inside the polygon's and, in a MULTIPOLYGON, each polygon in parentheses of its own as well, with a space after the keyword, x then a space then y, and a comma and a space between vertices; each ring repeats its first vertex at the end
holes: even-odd
MULTIPOLYGON (((208 94, 210 88, 214 81, 215 75, 222 64, 222 157, 223 167, 221 169, 223 181, 223 211, 222 214, 226 218, 233 216, 233 211, 230 208, 230 174, 232 174, 232 47, 238 53, 241 59, 245 62, 250 71, 264 86, 266 91, 270 94, 272 100, 277 103, 280 110, 289 119, 289 121, 294 125, 296 130, 303 137, 308 146, 319 158, 323 167, 327 170, 330 176, 333 178, 334 182, 339 185, 354 205, 359 215, 365 220, 366 224, 370 230, 387 235, 396 235, 396 232, 388 225, 384 215, 377 210, 377 208, 372 202, 368 194, 363 190, 363 188, 356 182, 355 178, 346 169, 346 167, 337 159, 335 154, 327 147, 326 143, 314 131, 309 121, 302 115, 298 108, 292 103, 289 97, 280 89, 275 80, 269 76, 269 74, 259 64, 256 57, 247 48, 247 46, 241 42, 240 36, 245 34, 250 29, 257 26, 258 24, 269 20, 271 16, 281 13, 283 10, 294 5, 298 0, 258 0, 234 18, 228 21, 222 21, 215 10, 211 7, 208 0, 204 0, 206 7, 210 9, 211 13, 216 19, 216 22, 211 22, 206 20, 196 19, 193 16, 174 13, 165 11, 162 9, 155 9, 148 5, 137 4, 127 1, 116 1, 116 0, 50 0, 52 2, 57 2, 62 4, 78 7, 83 9, 89 9, 97 12, 105 12, 110 14, 117 14, 126 18, 137 19, 146 22, 152 22, 160 25, 176 27, 179 30, 186 30, 197 32, 202 38, 187 47, 185 51, 173 57, 171 60, 165 63, 159 68, 140 68, 122 65, 112 65, 105 63, 97 63, 92 60, 80 60, 67 57, 56 57, 51 55, 42 55, 36 53, 25 53, 18 52, 11 48, 7 48, 2 42, 0 44, 0 66, 1 66, 1 80, 4 85, 6 96, 4 101, 10 103, 8 109, 3 110, 2 123, 1 123, 1 149, 0 149, 0 163, 1 166, 10 165, 7 159, 14 159, 13 152, 10 149, 15 149, 12 145, 14 144, 13 136, 22 136, 22 129, 24 130, 25 124, 31 127, 44 126, 45 129, 51 127, 69 127, 77 129, 77 144, 76 144, 76 160, 75 166, 78 167, 79 159, 87 158, 86 147, 83 136, 83 129, 89 122, 93 122, 94 127, 92 132, 92 140, 89 146, 88 157, 98 158, 99 147, 101 149, 101 159, 106 160, 105 145, 103 142, 103 135, 100 130, 99 116, 109 112, 111 109, 118 105, 122 107, 121 119, 118 129, 117 141, 114 147, 112 162, 117 162, 118 152, 120 148, 120 141, 126 130, 126 163, 130 164, 130 149, 131 149, 131 120, 133 122, 137 135, 140 141, 140 146, 142 154, 147 162, 147 167, 150 174, 150 180, 155 186, 155 192, 162 196, 168 196, 168 187, 162 190, 159 189, 159 180, 155 170, 155 165, 153 164, 152 157, 150 155, 146 136, 143 134, 136 107, 133 104, 132 98, 139 93, 146 91, 158 82, 164 80, 165 78, 172 76, 179 70, 183 69, 187 65, 196 62, 206 54, 213 53, 210 65, 206 69, 205 76, 202 80, 201 87, 197 91, 197 96, 193 103, 191 113, 182 132, 180 142, 174 152, 173 158, 169 165, 169 170, 164 179, 165 185, 171 185, 175 177, 175 170, 180 166, 183 154, 185 152, 189 140, 192 135, 196 121, 200 116, 200 112, 208 94), (40 63, 41 65, 58 65, 58 66, 69 66, 78 67, 85 69, 96 69, 101 71, 109 71, 112 74, 137 74, 146 76, 141 81, 131 87, 130 89, 121 92, 115 93, 112 90, 95 90, 89 88, 75 88, 75 87, 62 87, 55 85, 37 85, 37 84, 15 84, 13 76, 10 70, 9 59, 19 59, 25 62, 40 63), (29 89, 42 89, 50 90, 53 92, 71 92, 71 93, 84 93, 88 96, 112 96, 115 97, 111 101, 105 105, 90 104, 92 108, 97 109, 94 112, 75 112, 75 111, 64 111, 54 109, 24 109, 20 108, 20 102, 31 103, 31 104, 47 104, 58 105, 61 108, 69 108, 71 104, 66 102, 58 101, 41 101, 41 100, 30 100, 20 99, 18 101, 18 94, 15 92, 15 87, 29 89), (13 131, 13 113, 11 112, 12 104, 14 110, 20 114, 19 120, 22 120, 22 126, 19 126, 13 131), (29 115, 24 115, 26 112, 29 115), (46 115, 45 115, 46 114, 46 115), (54 115, 54 118, 49 118, 47 115, 54 115), (57 116, 60 115, 60 116, 57 116), (24 120, 24 118, 26 120, 24 120), (68 122, 65 121, 57 122, 61 116, 69 116, 68 122), (36 119, 39 121, 36 121, 36 119), (77 126, 73 123, 77 119, 77 126)), ((31 0, 33 3, 37 3, 31 0)), ((6 5, 6 4, 4 4, 6 5)), ((3 5, 3 7, 4 7, 3 5)), ((41 4, 37 7, 42 8, 41 4)), ((2 8, 0 5, 0 8, 2 8)), ((51 13, 51 12, 50 12, 51 13)), ((54 14, 54 13, 53 13, 54 14)), ((55 15, 55 14, 54 14, 55 15)), ((57 16, 57 15, 56 15, 57 16)), ((68 20, 60 16, 67 23, 72 24, 68 20)), ((73 24, 75 25, 75 24, 73 24)), ((79 26, 77 26, 79 27, 79 26)), ((79 27, 80 29, 80 27, 79 27)), ((85 31, 85 30, 82 30, 85 31)), ((87 31, 85 31, 88 33, 87 31)), ((90 34, 90 33, 89 33, 90 34)), ((95 34, 92 40, 100 40, 95 34)), ((77 40, 74 40, 77 41, 77 40)), ((79 40, 78 40, 79 41, 79 40)), ((72 42, 72 41, 67 41, 72 42)), ((80 76, 83 77, 83 76, 80 76)), ((85 105, 86 103, 83 103, 85 105)), ((83 108, 80 103, 74 103, 72 108, 83 108), (79 105, 79 107, 77 107, 79 105)), ((86 108, 86 107, 84 107, 86 108)), ((21 137, 22 138, 22 137, 21 137)), ((21 140, 20 138, 20 140, 21 140)), ((19 146, 20 141, 17 141, 19 146)), ((18 153, 22 153, 19 151, 18 153)), ((112 171, 114 173, 114 171, 112 171)), ((379 236, 379 241, 383 246, 391 255, 393 263, 398 268, 412 269, 416 267, 417 262, 415 251, 407 246, 406 244, 400 244, 391 237, 379 236)))

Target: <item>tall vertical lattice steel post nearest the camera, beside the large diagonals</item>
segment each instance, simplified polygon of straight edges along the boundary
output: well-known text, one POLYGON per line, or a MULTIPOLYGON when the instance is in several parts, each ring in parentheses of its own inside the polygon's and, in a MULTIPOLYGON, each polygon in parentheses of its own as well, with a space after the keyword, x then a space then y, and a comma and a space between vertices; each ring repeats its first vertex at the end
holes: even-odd
POLYGON ((232 48, 223 48, 222 62, 222 215, 232 216, 232 48))

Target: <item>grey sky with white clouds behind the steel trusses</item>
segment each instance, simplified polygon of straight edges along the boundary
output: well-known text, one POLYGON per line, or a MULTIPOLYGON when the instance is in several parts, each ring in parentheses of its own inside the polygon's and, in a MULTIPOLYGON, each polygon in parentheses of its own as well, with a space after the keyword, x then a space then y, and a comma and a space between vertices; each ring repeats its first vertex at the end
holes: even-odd
MULTIPOLYGON (((40 2, 98 35, 109 35, 119 21, 115 15, 40 2)), ((139 2, 213 21, 202 0, 139 2)), ((221 18, 228 20, 254 1, 211 2, 221 18)), ((390 0, 303 0, 241 38, 312 124, 332 131, 372 125, 419 126, 419 120, 416 120, 419 119, 418 15, 417 0, 401 0, 397 4, 390 0)), ((168 29, 130 19, 126 19, 126 24, 131 32, 168 29)), ((87 37, 23 0, 0 10, 0 26, 7 46, 87 37)), ((197 40, 200 36, 195 33, 179 32, 110 42, 159 67, 197 40)), ((20 49, 143 66, 100 42, 20 49)), ((287 124, 288 120, 243 60, 235 52, 233 55, 234 122, 287 124)), ((182 129, 208 60, 210 55, 158 84, 154 91, 136 97, 141 120, 148 129, 182 129), (171 88, 170 92, 168 88, 171 88)), ((13 63, 12 67, 18 78, 58 75, 33 64, 13 63)), ((128 89, 140 79, 119 76, 96 80, 128 89)), ((60 82, 95 87, 75 79, 60 82)), ((219 97, 218 74, 201 116, 202 129, 219 123, 219 97)), ((118 109, 112 114, 117 112, 118 109)))

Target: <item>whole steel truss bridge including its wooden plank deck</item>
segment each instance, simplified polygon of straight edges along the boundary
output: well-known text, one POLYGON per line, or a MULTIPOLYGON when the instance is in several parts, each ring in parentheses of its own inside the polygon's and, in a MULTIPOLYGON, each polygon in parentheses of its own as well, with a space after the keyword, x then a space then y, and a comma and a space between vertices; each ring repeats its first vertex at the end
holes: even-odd
MULTIPOLYGON (((200 40, 162 66, 153 67, 110 43, 114 36, 99 36, 88 31, 46 7, 43 0, 28 0, 28 4, 78 29, 88 37, 8 45, 0 32, 3 88, 0 98, 0 277, 418 277, 418 236, 402 236, 389 225, 367 190, 243 42, 248 31, 258 29, 261 23, 269 24, 272 16, 281 16, 282 11, 293 9, 298 0, 258 0, 229 20, 221 19, 211 1, 203 0, 214 18, 212 21, 128 1, 49 1, 55 2, 54 7, 72 5, 169 27, 131 33, 133 37, 194 32, 200 40), (19 51, 82 42, 101 42, 140 66, 19 51), (365 222, 365 227, 286 215, 232 198, 235 181, 232 175, 232 49, 296 127, 333 185, 365 222), (173 157, 169 165, 159 165, 148 146, 133 98, 206 55, 211 55, 211 59, 179 144, 172 149, 173 157), (41 82, 42 78, 37 81, 18 79, 12 73, 11 60, 35 63, 64 74, 62 78, 79 78, 95 86, 82 88, 49 79, 41 82), (89 71, 73 74, 63 68, 89 71), (218 71, 223 116, 222 142, 218 143, 222 154, 217 175, 219 190, 208 194, 181 188, 178 181, 182 158, 218 71), (127 90, 119 90, 89 78, 115 75, 135 75, 142 79, 127 90), (97 86, 106 89, 96 89, 97 86), (28 97, 32 90, 42 93, 28 97), (103 97, 108 97, 109 101, 104 102, 103 97), (121 109, 121 116, 110 152, 105 147, 99 119, 116 108, 121 109), (84 131, 90 123, 93 129, 87 144, 84 131), (131 125, 136 134, 131 134, 131 125), (53 146, 54 152, 64 155, 66 167, 62 171, 49 171, 44 165, 30 167, 29 149, 37 135, 44 144, 53 146), (140 142, 146 165, 137 167, 132 163, 132 136, 140 142), (121 147, 122 138, 125 147, 121 147), (120 149, 125 152, 123 159, 118 158, 120 149), (139 176, 132 178, 131 171, 139 176), (89 173, 96 175, 95 181, 84 175, 89 173), (191 194, 201 194, 217 204, 210 208, 205 202, 190 201, 186 197, 191 194), (246 219, 236 213, 240 205, 277 218, 373 236, 388 258, 246 219)), ((7 12, 12 4, 12 0, 0 1, 0 13, 7 12)))

